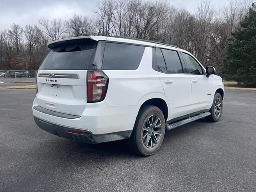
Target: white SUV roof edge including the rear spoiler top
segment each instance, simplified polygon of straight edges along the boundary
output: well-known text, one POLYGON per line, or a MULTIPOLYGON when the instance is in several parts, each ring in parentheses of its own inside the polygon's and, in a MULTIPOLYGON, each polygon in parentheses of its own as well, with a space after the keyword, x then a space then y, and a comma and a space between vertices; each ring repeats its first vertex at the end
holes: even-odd
POLYGON ((49 42, 47 44, 48 48, 54 47, 55 44, 58 44, 58 42, 65 42, 69 40, 78 40, 78 39, 85 39, 85 38, 90 38, 95 41, 99 40, 107 40, 107 41, 112 41, 112 42, 124 42, 124 43, 132 43, 132 44, 138 44, 138 45, 144 45, 144 46, 165 46, 165 47, 171 47, 176 50, 181 50, 180 48, 173 46, 173 45, 168 45, 168 44, 163 44, 163 43, 158 43, 158 42, 153 42, 153 41, 148 41, 148 40, 142 40, 142 39, 136 39, 136 38, 129 38, 129 37, 122 37, 122 36, 80 36, 80 37, 72 37, 72 38, 65 38, 65 39, 60 39, 56 41, 49 42))

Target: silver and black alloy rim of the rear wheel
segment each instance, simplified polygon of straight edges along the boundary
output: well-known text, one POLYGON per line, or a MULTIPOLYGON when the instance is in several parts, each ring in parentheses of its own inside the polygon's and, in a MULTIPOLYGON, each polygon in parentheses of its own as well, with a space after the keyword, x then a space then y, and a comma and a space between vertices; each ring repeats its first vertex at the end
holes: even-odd
POLYGON ((162 122, 158 115, 149 116, 143 124, 142 141, 147 148, 156 146, 162 134, 162 122))

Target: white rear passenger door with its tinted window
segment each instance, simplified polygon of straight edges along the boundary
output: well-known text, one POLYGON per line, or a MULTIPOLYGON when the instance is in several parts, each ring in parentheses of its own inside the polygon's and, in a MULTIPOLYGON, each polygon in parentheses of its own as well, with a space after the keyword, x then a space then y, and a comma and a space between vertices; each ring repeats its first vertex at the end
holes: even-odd
POLYGON ((156 48, 156 70, 169 103, 170 119, 188 114, 191 103, 190 76, 183 73, 178 52, 156 48))

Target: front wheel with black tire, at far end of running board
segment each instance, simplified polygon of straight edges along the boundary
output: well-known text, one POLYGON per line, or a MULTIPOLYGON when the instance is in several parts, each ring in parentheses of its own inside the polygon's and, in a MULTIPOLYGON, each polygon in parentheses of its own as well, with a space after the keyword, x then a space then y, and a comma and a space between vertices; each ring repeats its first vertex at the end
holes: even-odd
POLYGON ((213 99, 213 102, 212 102, 212 107, 210 108, 210 113, 211 115, 205 117, 205 120, 208 121, 208 122, 217 122, 220 120, 220 117, 221 117, 221 114, 222 114, 222 108, 223 108, 223 103, 222 103, 222 97, 219 93, 215 93, 214 95, 214 99, 213 99), (216 106, 214 106, 217 102, 219 101, 220 103, 220 109, 218 107, 218 109, 216 109, 216 106), (218 110, 217 114, 216 115, 216 110, 218 110))

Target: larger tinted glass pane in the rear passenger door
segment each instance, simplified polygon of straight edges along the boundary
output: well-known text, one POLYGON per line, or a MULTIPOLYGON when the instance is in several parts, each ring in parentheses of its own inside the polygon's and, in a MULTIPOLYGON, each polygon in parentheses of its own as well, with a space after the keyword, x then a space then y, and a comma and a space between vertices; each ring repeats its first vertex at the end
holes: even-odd
POLYGON ((168 73, 183 73, 178 52, 162 49, 168 73))

